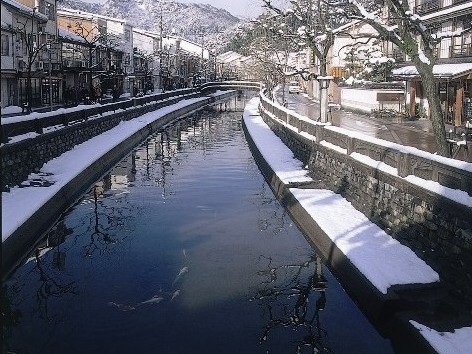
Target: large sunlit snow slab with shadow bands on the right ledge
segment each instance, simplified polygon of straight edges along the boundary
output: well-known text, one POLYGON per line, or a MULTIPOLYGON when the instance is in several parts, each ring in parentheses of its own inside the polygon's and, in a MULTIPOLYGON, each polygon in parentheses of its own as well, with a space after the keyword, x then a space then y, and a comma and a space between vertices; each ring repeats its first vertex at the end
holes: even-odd
POLYGON ((385 233, 339 194, 322 189, 291 188, 290 192, 383 294, 392 285, 439 281, 439 275, 411 249, 385 233))

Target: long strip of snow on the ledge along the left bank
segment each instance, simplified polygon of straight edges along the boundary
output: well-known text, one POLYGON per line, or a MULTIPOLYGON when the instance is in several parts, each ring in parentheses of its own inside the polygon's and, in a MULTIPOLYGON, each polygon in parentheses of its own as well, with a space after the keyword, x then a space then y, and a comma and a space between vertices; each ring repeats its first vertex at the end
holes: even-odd
POLYGON ((206 97, 182 100, 130 121, 121 122, 115 128, 75 146, 41 168, 42 179, 53 182, 51 186, 14 187, 10 192, 2 192, 2 242, 71 179, 121 141, 163 115, 204 99, 206 97), (97 146, 100 146, 100 149, 97 149, 97 146))

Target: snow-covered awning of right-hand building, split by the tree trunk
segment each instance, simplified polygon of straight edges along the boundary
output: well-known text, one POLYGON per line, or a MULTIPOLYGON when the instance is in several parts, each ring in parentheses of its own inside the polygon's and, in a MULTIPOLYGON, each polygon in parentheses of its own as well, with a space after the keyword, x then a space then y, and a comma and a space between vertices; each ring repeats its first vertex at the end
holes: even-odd
MULTIPOLYGON (((433 75, 436 79, 456 79, 472 73, 472 63, 436 64, 433 66, 433 75)), ((392 70, 395 79, 417 79, 418 70, 413 65, 392 70)))

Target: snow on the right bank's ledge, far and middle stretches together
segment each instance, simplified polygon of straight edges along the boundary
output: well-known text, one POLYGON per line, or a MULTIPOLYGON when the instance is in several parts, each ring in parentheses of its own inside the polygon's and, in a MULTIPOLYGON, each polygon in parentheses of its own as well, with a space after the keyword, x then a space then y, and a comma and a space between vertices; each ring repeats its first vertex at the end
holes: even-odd
MULTIPOLYGON (((311 180, 302 163, 258 115, 257 105, 258 99, 248 103, 244 122, 264 159, 285 184, 311 180)), ((381 293, 386 294, 393 285, 439 281, 439 275, 413 251, 370 222, 340 195, 319 189, 291 188, 290 192, 381 293)))

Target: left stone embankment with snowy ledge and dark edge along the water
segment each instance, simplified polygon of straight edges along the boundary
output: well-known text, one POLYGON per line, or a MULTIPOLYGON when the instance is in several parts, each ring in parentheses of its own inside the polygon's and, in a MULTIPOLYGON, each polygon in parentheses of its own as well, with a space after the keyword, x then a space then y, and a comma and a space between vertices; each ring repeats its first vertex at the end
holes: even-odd
MULTIPOLYGON (((184 99, 158 110, 149 112, 146 109, 148 114, 144 116, 138 116, 137 112, 130 113, 134 119, 124 119, 122 121, 120 119, 129 116, 123 116, 123 112, 115 112, 107 115, 110 121, 116 123, 110 123, 114 127, 103 133, 98 128, 101 126, 100 121, 102 119, 98 118, 99 122, 95 122, 97 124, 95 126, 96 130, 91 129, 90 134, 94 135, 95 138, 99 138, 99 140, 86 139, 78 146, 74 146, 72 141, 77 135, 82 136, 80 133, 83 128, 82 124, 61 129, 62 132, 54 132, 54 136, 58 134, 67 140, 63 149, 67 147, 69 151, 62 153, 60 157, 64 157, 64 161, 69 163, 68 166, 71 170, 62 171, 60 175, 45 176, 45 180, 51 182, 42 186, 14 187, 9 192, 3 192, 2 276, 8 276, 9 272, 21 261, 22 256, 34 247, 35 243, 40 240, 41 236, 55 223, 61 214, 71 207, 106 171, 126 156, 133 147, 166 124, 234 95, 235 91, 229 91, 200 98, 184 99), (119 122, 122 124, 118 124, 119 122), (102 136, 103 139, 100 139, 102 136), (84 149, 79 149, 78 153, 74 154, 74 149, 80 147, 84 149), (74 149, 70 150, 72 148, 74 149), (83 156, 84 153, 89 155, 83 156), (74 160, 76 163, 70 162, 74 160), (8 222, 6 219, 8 219, 8 222)), ((93 124, 93 121, 85 123, 93 124)), ((4 149, 25 149, 28 144, 34 144, 36 139, 43 142, 47 136, 48 134, 43 134, 34 139, 28 139, 25 143, 22 143, 25 145, 21 146, 19 143, 15 143, 13 148, 4 145, 2 146, 2 158, 4 149)), ((50 135, 49 137, 51 138, 50 135)), ((37 144, 40 145, 41 142, 37 144)), ((59 152, 55 152, 55 154, 57 153, 59 152)), ((27 164, 28 161, 26 160, 35 158, 35 156, 26 154, 24 163, 27 164)), ((48 159, 47 157, 43 158, 48 159)), ((31 161, 31 163, 34 163, 34 161, 31 161)), ((31 172, 33 171, 28 173, 31 172)))

